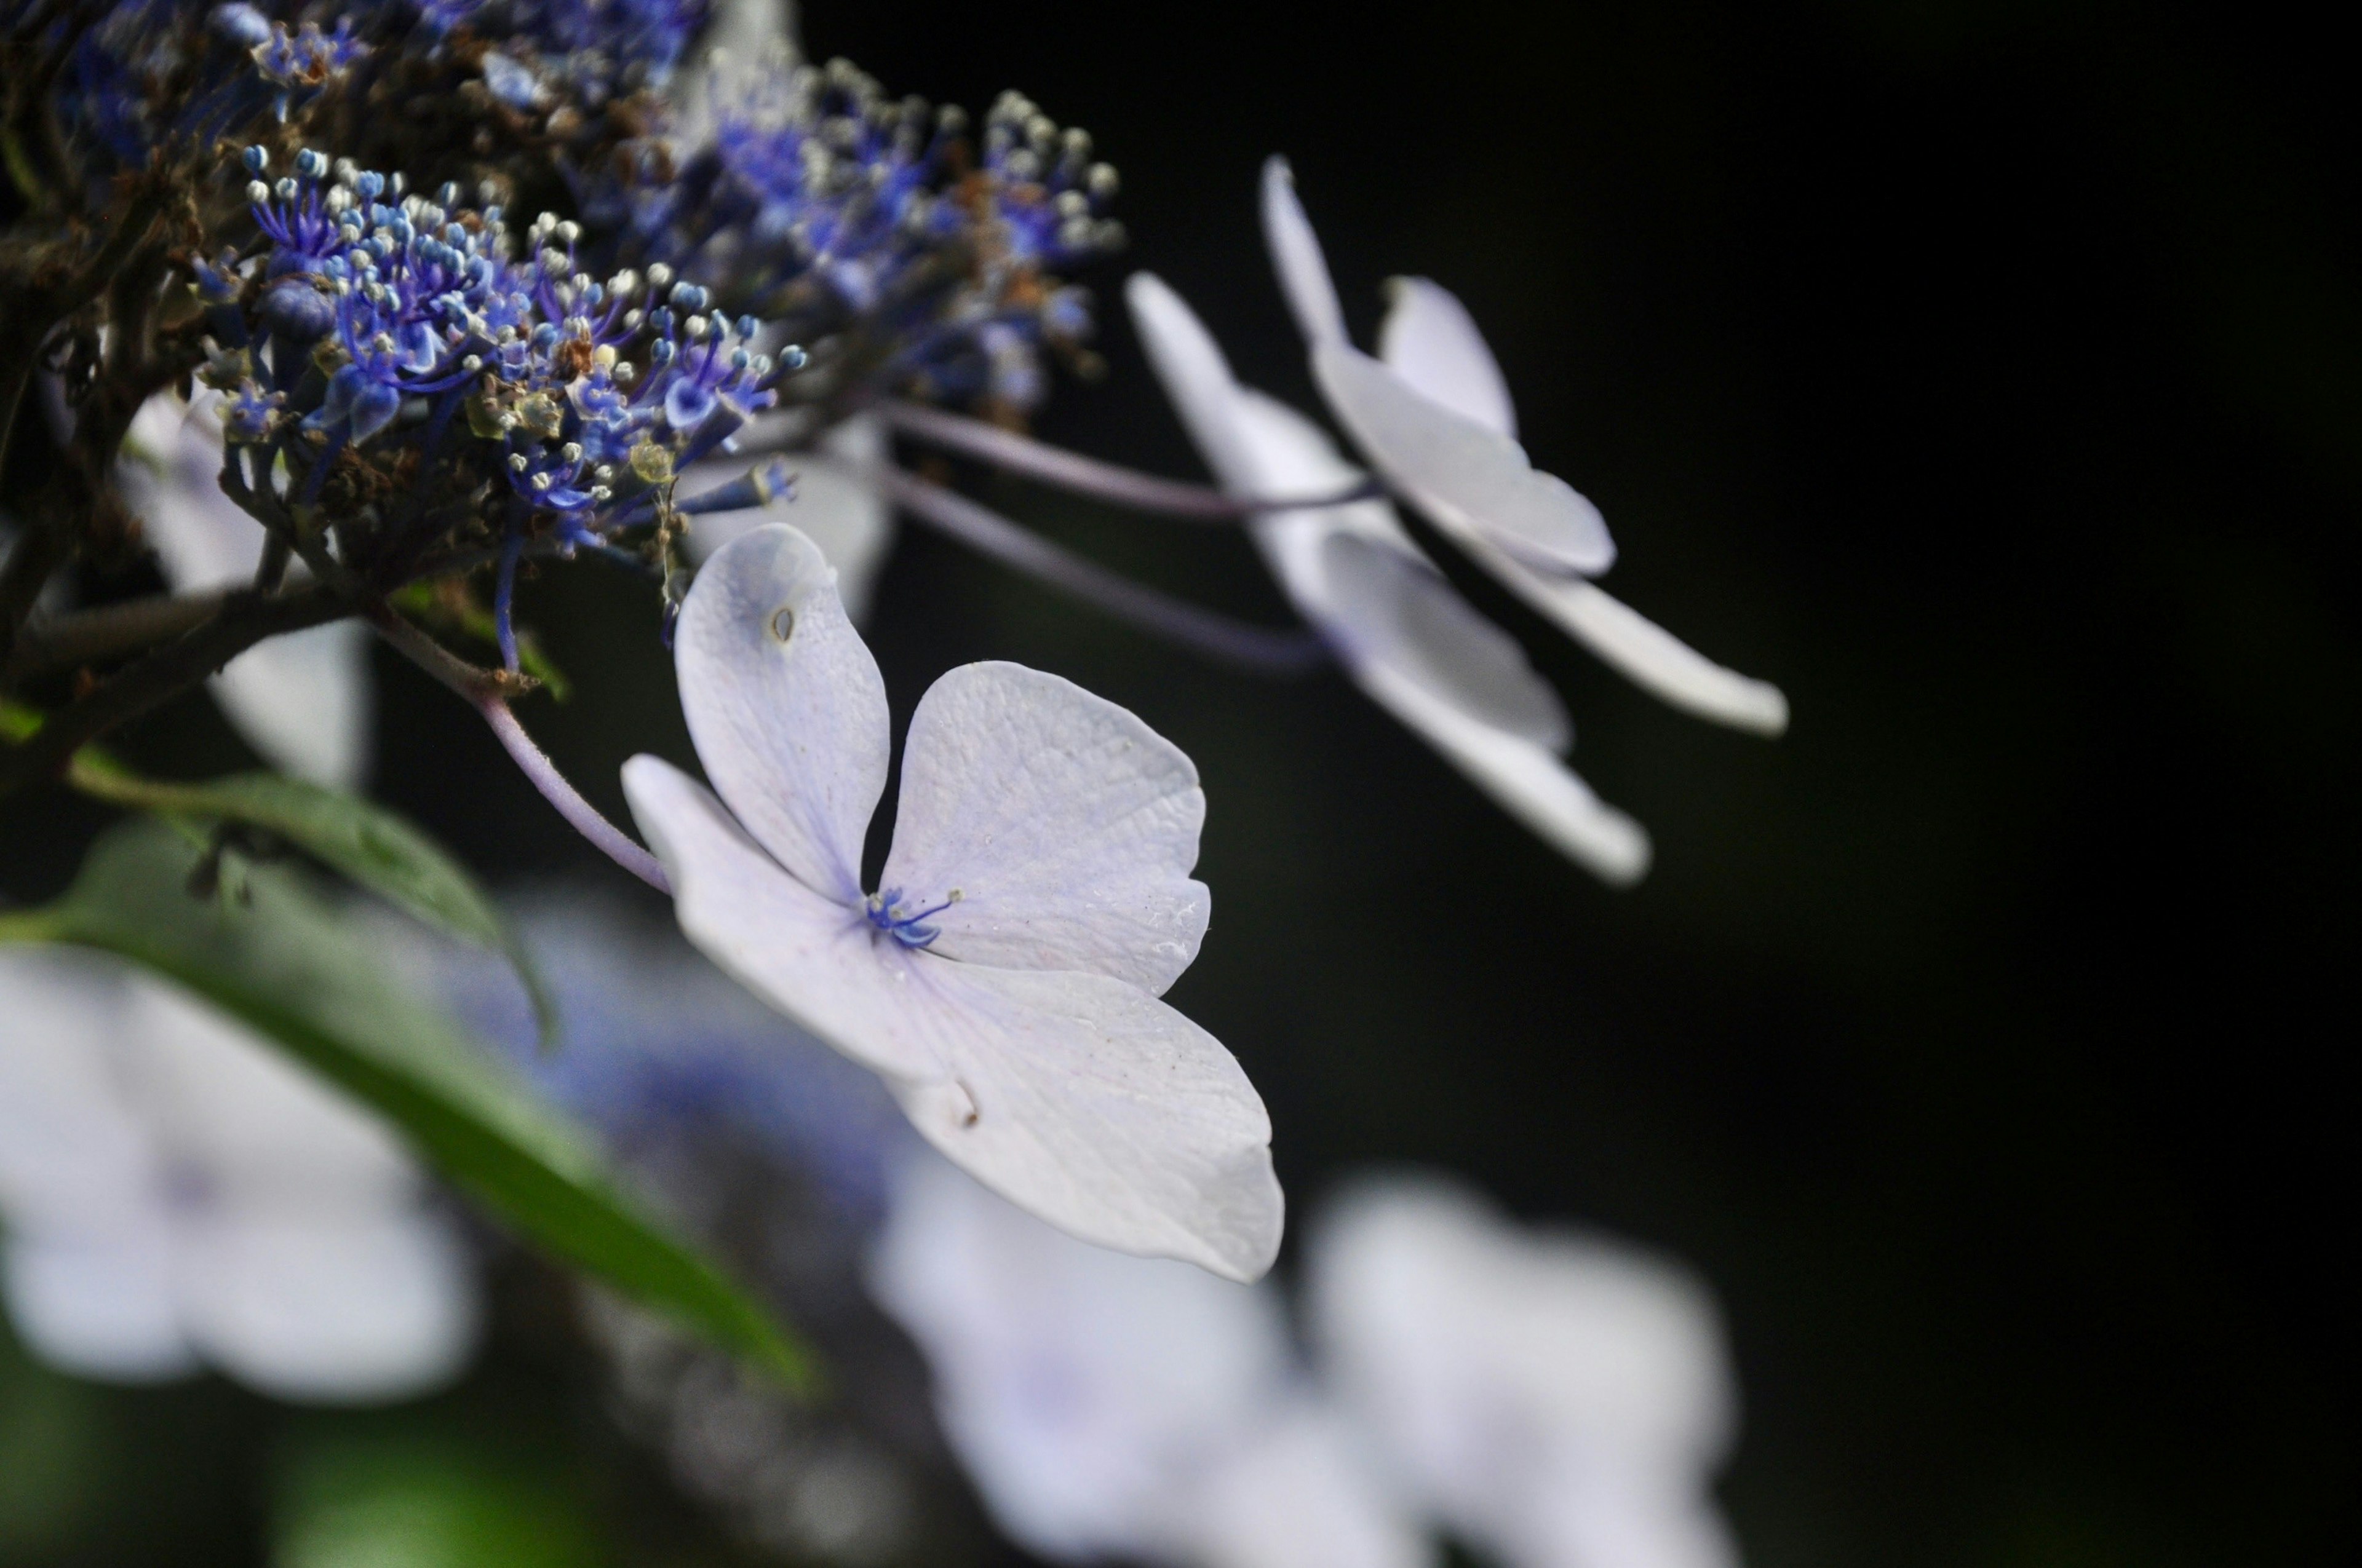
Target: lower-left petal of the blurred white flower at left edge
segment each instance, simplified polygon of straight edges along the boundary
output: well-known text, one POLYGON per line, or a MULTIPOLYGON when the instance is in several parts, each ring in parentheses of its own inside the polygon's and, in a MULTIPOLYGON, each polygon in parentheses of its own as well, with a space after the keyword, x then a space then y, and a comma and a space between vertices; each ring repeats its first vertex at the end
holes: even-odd
POLYGON ((0 1296, 26 1348, 61 1372, 151 1384, 196 1370, 161 1216, 130 1230, 9 1235, 0 1296))

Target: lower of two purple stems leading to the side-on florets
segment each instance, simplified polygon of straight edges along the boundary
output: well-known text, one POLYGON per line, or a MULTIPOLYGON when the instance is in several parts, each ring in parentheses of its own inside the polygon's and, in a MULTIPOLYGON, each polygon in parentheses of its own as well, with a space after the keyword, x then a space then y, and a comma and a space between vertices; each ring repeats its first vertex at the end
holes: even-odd
POLYGON ((1157 593, 900 468, 881 468, 869 477, 888 501, 938 534, 1209 659, 1266 675, 1301 675, 1327 661, 1327 645, 1309 631, 1249 626, 1157 593))

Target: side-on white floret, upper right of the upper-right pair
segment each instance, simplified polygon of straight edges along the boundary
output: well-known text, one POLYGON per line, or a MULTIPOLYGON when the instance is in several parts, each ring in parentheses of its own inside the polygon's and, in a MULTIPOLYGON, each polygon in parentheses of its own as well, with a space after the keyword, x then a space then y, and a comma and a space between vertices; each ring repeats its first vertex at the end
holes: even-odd
POLYGON ((1398 496, 1635 685, 1738 730, 1788 727, 1779 687, 1722 668, 1585 581, 1616 560, 1606 522, 1526 463, 1507 383, 1460 300, 1427 279, 1396 279, 1370 359, 1335 324, 1335 286, 1280 158, 1264 165, 1264 231, 1323 399, 1398 496))

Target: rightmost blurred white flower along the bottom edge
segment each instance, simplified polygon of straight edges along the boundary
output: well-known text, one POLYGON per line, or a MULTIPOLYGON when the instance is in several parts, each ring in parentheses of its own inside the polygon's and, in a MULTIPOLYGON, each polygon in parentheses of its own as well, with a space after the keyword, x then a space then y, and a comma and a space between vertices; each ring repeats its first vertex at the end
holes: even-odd
POLYGON ((1686 1270, 1391 1178, 1323 1211, 1309 1306, 1332 1389, 1394 1478, 1507 1568, 1738 1561, 1708 1492, 1738 1400, 1686 1270))

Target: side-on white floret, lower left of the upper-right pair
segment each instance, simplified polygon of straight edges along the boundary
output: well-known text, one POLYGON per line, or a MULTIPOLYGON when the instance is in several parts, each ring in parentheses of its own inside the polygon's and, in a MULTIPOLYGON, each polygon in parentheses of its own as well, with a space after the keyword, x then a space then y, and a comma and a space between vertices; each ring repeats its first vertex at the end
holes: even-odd
MULTIPOLYGON (((1238 385, 1181 298, 1134 274, 1124 298, 1207 465, 1238 496, 1337 494, 1361 475, 1304 416, 1238 385)), ((1516 642, 1436 571, 1384 501, 1264 512, 1254 541, 1294 602, 1379 706, 1564 855, 1611 883, 1649 869, 1649 836, 1559 753, 1566 711, 1516 642)))

